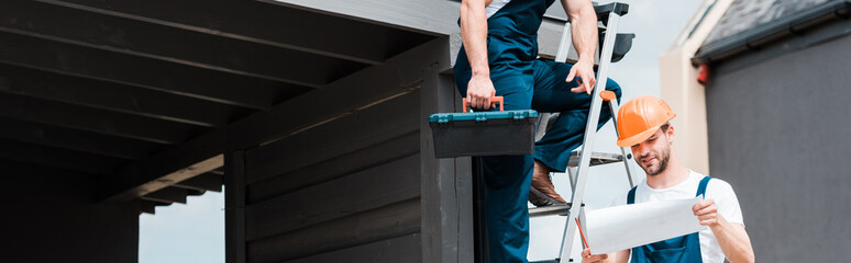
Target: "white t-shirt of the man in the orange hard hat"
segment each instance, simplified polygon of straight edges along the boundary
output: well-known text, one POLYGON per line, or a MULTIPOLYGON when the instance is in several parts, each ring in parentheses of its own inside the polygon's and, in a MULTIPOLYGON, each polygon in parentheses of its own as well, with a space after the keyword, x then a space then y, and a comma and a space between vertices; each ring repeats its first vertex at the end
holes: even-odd
MULTIPOLYGON (((704 174, 690 171, 686 181, 674 185, 668 188, 651 188, 648 185, 646 179, 641 181, 636 190, 636 203, 644 203, 652 201, 666 201, 666 199, 684 199, 693 198, 697 193, 697 186, 700 184, 700 180, 704 179, 704 174)), ((611 202, 612 206, 626 205, 627 195, 629 191, 618 195, 611 202)), ((744 226, 742 219, 742 209, 739 206, 739 198, 736 197, 736 193, 729 183, 720 179, 709 180, 709 184, 706 185, 706 199, 715 199, 715 205, 718 207, 718 214, 723 216, 727 221, 741 224, 744 226)), ((711 229, 701 230, 700 233, 700 254, 704 262, 707 263, 722 263, 725 260, 721 245, 718 244, 718 240, 715 238, 711 229)))

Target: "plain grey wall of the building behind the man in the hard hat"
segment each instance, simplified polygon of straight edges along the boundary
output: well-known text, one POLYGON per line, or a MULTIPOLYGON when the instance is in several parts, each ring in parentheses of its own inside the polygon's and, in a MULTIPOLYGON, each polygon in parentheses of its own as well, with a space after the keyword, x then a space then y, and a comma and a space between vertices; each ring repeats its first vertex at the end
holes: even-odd
POLYGON ((851 36, 787 44, 716 65, 710 170, 736 190, 758 261, 846 262, 851 36))

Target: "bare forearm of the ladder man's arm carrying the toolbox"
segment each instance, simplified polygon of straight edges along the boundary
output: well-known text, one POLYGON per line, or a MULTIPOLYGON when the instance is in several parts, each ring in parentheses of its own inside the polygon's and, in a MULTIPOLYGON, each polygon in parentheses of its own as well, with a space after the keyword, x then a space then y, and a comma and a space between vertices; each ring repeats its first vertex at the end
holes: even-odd
POLYGON ((461 3, 461 41, 467 53, 473 76, 488 77, 490 68, 487 60, 487 18, 485 0, 464 0, 461 3))

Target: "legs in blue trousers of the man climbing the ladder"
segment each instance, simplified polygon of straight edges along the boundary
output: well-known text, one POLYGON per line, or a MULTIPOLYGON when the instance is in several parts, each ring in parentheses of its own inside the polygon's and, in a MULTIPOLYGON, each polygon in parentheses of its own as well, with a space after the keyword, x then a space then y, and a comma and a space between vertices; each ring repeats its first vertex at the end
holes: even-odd
MULTIPOLYGON (((532 181, 533 161, 563 172, 572 150, 582 144, 592 96, 573 93, 576 82, 564 82, 571 65, 535 60, 529 73, 491 77, 497 95, 505 98, 506 110, 560 112, 546 135, 535 142, 534 155, 480 158, 487 188, 486 220, 490 262, 528 262, 529 211, 527 201, 532 181)), ((607 90, 620 100, 620 87, 608 80, 607 90)), ((466 87, 460 85, 462 94, 466 87)), ((604 105, 599 125, 611 117, 604 105)))

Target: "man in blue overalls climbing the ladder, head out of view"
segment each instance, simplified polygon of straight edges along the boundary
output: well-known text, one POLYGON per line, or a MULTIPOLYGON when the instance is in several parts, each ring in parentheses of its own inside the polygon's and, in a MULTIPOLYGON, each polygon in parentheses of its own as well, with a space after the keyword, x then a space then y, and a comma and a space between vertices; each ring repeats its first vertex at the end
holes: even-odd
MULTIPOLYGON (((592 104, 598 35, 594 8, 590 0, 562 0, 578 52, 575 65, 539 60, 538 28, 553 1, 463 0, 461 4, 463 47, 454 71, 471 108, 488 110, 490 98, 500 95, 506 110, 561 113, 535 144, 534 156, 480 159, 490 262, 527 262, 528 199, 535 205, 565 203, 553 191, 549 173, 564 172, 571 151, 582 144, 592 104), (530 185, 543 196, 530 197, 530 185)), ((607 81, 606 90, 620 98, 614 81, 607 81)), ((597 128, 611 117, 609 112, 603 111, 597 128)))

